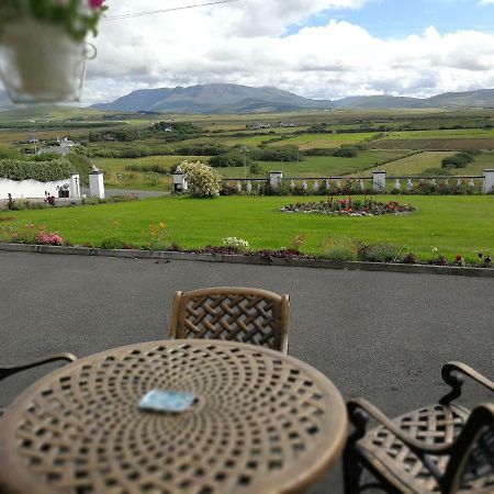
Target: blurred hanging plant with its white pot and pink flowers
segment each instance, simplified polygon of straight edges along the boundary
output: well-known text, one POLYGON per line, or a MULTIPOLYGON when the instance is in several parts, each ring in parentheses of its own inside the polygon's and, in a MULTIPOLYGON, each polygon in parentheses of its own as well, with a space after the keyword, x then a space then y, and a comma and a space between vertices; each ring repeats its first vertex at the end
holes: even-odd
POLYGON ((104 0, 1 1, 0 77, 11 100, 80 101, 86 36, 105 9, 104 0))

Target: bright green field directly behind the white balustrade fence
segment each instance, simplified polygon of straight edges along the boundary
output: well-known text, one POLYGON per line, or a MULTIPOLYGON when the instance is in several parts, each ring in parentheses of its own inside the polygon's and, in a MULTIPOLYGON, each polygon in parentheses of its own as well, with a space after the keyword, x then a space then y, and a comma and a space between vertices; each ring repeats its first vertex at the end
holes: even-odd
MULTIPOLYGON (((397 159, 406 155, 395 150, 369 150, 361 153, 356 158, 337 158, 335 156, 306 157, 300 162, 273 162, 259 161, 263 170, 258 177, 266 177, 267 171, 283 171, 284 177, 335 177, 357 173, 360 170, 369 169, 375 164, 397 159)), ((243 178, 244 168, 217 168, 225 178, 243 178)), ((248 169, 247 169, 248 173, 248 169)), ((254 176, 248 173, 248 177, 254 176)))

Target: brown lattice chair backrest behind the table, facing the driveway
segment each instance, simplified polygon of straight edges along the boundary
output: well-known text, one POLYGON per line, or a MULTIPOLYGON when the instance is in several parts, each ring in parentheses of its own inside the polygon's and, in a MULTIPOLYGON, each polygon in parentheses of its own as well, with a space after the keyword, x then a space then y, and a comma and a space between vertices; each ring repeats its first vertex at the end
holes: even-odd
POLYGON ((203 338, 262 345, 288 353, 289 295, 220 287, 177 292, 170 338, 203 338))

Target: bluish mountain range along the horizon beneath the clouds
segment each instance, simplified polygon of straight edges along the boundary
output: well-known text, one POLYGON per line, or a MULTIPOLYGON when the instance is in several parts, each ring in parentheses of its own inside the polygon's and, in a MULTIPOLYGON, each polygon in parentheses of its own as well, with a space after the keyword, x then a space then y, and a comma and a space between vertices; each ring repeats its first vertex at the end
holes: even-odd
POLYGON ((431 98, 392 96, 311 100, 276 88, 211 83, 191 87, 139 89, 92 109, 119 112, 256 113, 296 110, 388 110, 494 108, 494 89, 447 92, 431 98))

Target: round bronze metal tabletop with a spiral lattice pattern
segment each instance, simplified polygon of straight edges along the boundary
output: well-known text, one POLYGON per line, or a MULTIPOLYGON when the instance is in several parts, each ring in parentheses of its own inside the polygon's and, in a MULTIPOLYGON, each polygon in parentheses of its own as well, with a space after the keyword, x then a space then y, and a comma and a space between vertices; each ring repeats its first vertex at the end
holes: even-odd
POLYGON ((301 492, 341 453, 344 401, 308 364, 215 340, 97 353, 24 391, 0 419, 7 493, 301 492), (192 392, 181 414, 143 412, 150 390, 192 392))

